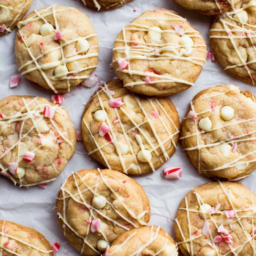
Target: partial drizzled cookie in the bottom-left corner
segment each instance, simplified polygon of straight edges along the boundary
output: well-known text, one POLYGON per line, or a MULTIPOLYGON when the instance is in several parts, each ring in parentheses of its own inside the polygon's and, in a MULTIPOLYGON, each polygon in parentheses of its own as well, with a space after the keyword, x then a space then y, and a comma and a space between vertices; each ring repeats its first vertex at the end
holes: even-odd
POLYGON ((53 256, 46 238, 35 229, 0 220, 0 255, 53 256))

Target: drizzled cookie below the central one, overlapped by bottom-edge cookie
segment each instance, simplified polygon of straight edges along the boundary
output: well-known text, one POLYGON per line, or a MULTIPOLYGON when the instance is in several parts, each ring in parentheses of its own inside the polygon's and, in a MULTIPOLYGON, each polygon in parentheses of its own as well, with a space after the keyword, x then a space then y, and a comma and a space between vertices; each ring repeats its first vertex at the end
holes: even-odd
POLYGON ((134 179, 114 170, 80 170, 60 187, 59 225, 81 254, 101 255, 120 234, 150 221, 150 202, 134 179))

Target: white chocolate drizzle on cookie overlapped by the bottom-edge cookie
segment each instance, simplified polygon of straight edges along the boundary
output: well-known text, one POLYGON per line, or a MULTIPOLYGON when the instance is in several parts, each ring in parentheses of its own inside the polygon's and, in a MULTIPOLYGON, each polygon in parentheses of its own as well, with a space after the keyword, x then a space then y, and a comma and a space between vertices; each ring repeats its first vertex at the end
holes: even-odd
MULTIPOLYGON (((89 231, 90 231, 90 225, 88 225, 87 227, 87 232, 86 232, 86 236, 83 237, 81 236, 76 230, 74 230, 70 224, 68 223, 67 219, 66 219, 66 211, 67 211, 67 199, 72 199, 74 201, 76 201, 78 204, 86 207, 87 209, 89 209, 90 212, 90 218, 89 220, 92 221, 93 219, 95 219, 95 213, 97 215, 99 215, 101 218, 104 218, 106 220, 111 221, 114 225, 117 225, 121 228, 123 228, 124 230, 128 231, 130 230, 129 227, 122 225, 121 223, 119 223, 118 221, 115 221, 113 219, 111 219, 110 217, 108 217, 107 215, 105 215, 102 211, 98 210, 97 208, 93 207, 92 205, 88 204, 88 202, 86 201, 86 198, 83 197, 83 193, 86 191, 90 191, 93 196, 100 196, 100 194, 98 194, 97 188, 100 184, 104 183, 108 189, 111 191, 111 193, 113 193, 113 195, 117 198, 116 200, 118 200, 120 202, 120 204, 122 205, 122 207, 127 211, 127 213, 129 214, 129 216, 134 219, 137 223, 139 223, 140 225, 147 225, 147 223, 145 223, 144 221, 142 221, 141 219, 145 216, 145 214, 148 212, 148 210, 145 210, 143 212, 141 212, 140 214, 138 214, 137 216, 134 214, 134 212, 129 209, 123 202, 122 198, 120 197, 120 192, 119 191, 114 191, 113 188, 108 184, 108 176, 103 175, 103 173, 101 172, 101 170, 98 168, 98 172, 99 172, 99 177, 97 179, 97 182, 94 186, 90 187, 86 182, 84 182, 84 177, 81 177, 78 173, 74 173, 72 174, 74 183, 76 185, 77 188, 77 193, 76 194, 72 194, 68 189, 66 189, 66 183, 67 183, 67 179, 65 180, 65 182, 63 182, 63 184, 60 187, 60 191, 61 191, 61 197, 57 198, 58 200, 62 200, 63 201, 63 216, 60 214, 60 212, 57 212, 57 215, 59 216, 59 218, 63 221, 64 225, 64 234, 66 234, 66 227, 68 227, 77 237, 81 238, 83 240, 83 246, 81 249, 81 254, 83 254, 84 252, 84 247, 87 245, 89 246, 94 252, 98 253, 99 255, 101 255, 101 252, 98 251, 96 248, 94 248, 94 246, 92 244, 90 244, 88 242, 88 235, 89 235, 89 231), (86 187, 86 189, 84 190, 80 190, 79 185, 78 185, 78 180, 80 180, 82 182, 82 185, 84 185, 86 187), (77 196, 79 196, 80 198, 77 198, 77 196)), ((121 214, 120 211, 118 211, 118 209, 116 209, 114 207, 114 205, 106 200, 106 204, 111 206, 111 208, 116 212, 116 214, 118 214, 120 216, 121 219, 127 221, 131 226, 133 226, 133 228, 138 228, 139 226, 134 223, 132 220, 126 218, 125 216, 123 216, 121 214)), ((105 239, 105 241, 108 241, 107 238, 107 234, 105 234, 102 230, 100 231, 101 236, 103 237, 103 239, 105 239)), ((100 238, 99 238, 100 239, 100 238)))

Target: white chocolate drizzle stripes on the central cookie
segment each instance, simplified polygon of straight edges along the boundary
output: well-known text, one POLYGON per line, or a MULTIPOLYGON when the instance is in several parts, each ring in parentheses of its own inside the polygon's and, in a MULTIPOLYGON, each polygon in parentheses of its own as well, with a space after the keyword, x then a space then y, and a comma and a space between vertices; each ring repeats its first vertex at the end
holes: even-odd
MULTIPOLYGON (((99 102, 99 104, 100 104, 100 108, 105 112, 106 123, 107 123, 107 124, 110 126, 110 128, 111 128, 111 131, 110 131, 110 133, 109 133, 109 134, 110 134, 110 138, 111 138, 111 141, 112 141, 113 145, 115 146, 116 153, 117 153, 118 156, 119 156, 120 163, 121 163, 122 168, 123 168, 123 172, 124 172, 125 174, 127 174, 128 171, 129 171, 129 169, 130 169, 130 168, 133 168, 133 165, 135 164, 135 165, 137 165, 137 167, 138 167, 138 171, 139 171, 140 173, 142 173, 142 172, 141 172, 140 164, 138 164, 137 157, 136 157, 136 155, 135 155, 135 153, 134 153, 134 151, 133 151, 133 148, 132 148, 132 146, 131 146, 131 143, 129 142, 129 133, 132 132, 132 131, 134 131, 135 129, 137 129, 137 130, 140 132, 140 135, 137 135, 137 137, 138 137, 137 143, 138 143, 138 145, 140 145, 141 150, 144 150, 144 146, 143 146, 143 144, 142 144, 142 139, 141 139, 141 136, 143 136, 143 137, 145 138, 146 142, 148 143, 148 145, 150 145, 150 147, 151 147, 150 152, 151 152, 151 153, 155 153, 155 154, 159 157, 159 160, 160 160, 162 163, 168 161, 169 156, 168 156, 166 150, 168 150, 172 144, 174 145, 174 147, 175 147, 175 149, 176 149, 176 144, 175 144, 175 142, 174 142, 174 140, 173 140, 173 137, 174 137, 176 134, 179 133, 179 130, 178 130, 178 128, 176 127, 176 125, 174 124, 172 118, 168 115, 168 113, 166 112, 166 110, 165 110, 164 107, 162 106, 162 104, 157 100, 157 98, 154 98, 154 99, 152 99, 152 98, 147 99, 148 102, 150 103, 150 105, 152 106, 152 110, 155 112, 157 118, 159 119, 159 122, 161 122, 161 124, 163 125, 163 127, 164 127, 166 133, 168 134, 168 137, 167 137, 164 141, 161 141, 161 140, 160 140, 160 138, 159 138, 159 136, 158 136, 158 133, 157 133, 155 127, 154 127, 153 124, 152 124, 151 119, 147 116, 147 113, 146 113, 145 109, 143 108, 143 106, 142 106, 142 104, 141 104, 140 98, 137 97, 137 95, 134 94, 133 92, 130 92, 131 95, 132 95, 132 98, 136 101, 137 106, 142 110, 142 113, 143 113, 143 115, 145 116, 146 120, 143 121, 143 122, 141 122, 140 124, 137 124, 137 123, 133 120, 133 118, 129 115, 129 113, 127 113, 127 111, 121 106, 119 109, 122 111, 122 113, 123 113, 123 114, 132 122, 132 124, 134 125, 131 129, 129 129, 128 131, 125 131, 124 125, 123 125, 122 122, 121 122, 120 114, 119 114, 119 112, 118 112, 117 109, 114 109, 115 114, 116 114, 116 117, 119 119, 118 123, 120 124, 121 130, 122 130, 122 132, 123 132, 123 134, 121 134, 121 135, 119 135, 119 136, 116 136, 115 133, 114 133, 114 131, 113 131, 113 129, 112 129, 112 127, 113 127, 113 120, 110 120, 110 119, 109 119, 108 113, 106 112, 106 110, 105 110, 105 108, 104 108, 104 104, 103 104, 102 99, 101 99, 101 97, 100 97, 100 93, 101 93, 101 92, 104 92, 104 93, 109 97, 109 99, 113 99, 112 93, 111 93, 111 91, 109 90, 109 86, 110 86, 110 85, 111 85, 111 83, 110 83, 110 84, 106 84, 106 83, 105 83, 105 84, 104 84, 104 87, 102 87, 101 90, 99 90, 99 91, 95 94, 94 98, 97 98, 97 100, 98 100, 98 102, 99 102), (166 126, 166 124, 165 124, 165 122, 164 122, 162 116, 159 115, 156 106, 157 106, 157 108, 160 108, 160 109, 163 111, 163 113, 164 113, 164 115, 167 117, 168 121, 174 126, 174 130, 175 130, 175 131, 174 131, 173 134, 167 129, 167 126, 166 126), (156 138, 156 141, 157 141, 157 143, 158 143, 157 146, 154 146, 154 145, 153 145, 153 143, 151 142, 150 138, 146 135, 146 133, 143 131, 143 129, 142 129, 142 127, 141 127, 143 124, 146 124, 146 123, 148 123, 148 125, 150 126, 150 129, 152 130, 152 132, 153 132, 153 134, 154 134, 154 136, 155 136, 155 138, 156 138), (126 165, 125 165, 125 159, 124 159, 124 157, 123 157, 122 154, 121 154, 120 145, 118 144, 118 139, 119 139, 119 138, 122 138, 122 137, 125 138, 125 141, 126 141, 127 145, 129 146, 130 152, 132 153, 132 156, 133 156, 133 158, 134 158, 134 163, 133 163, 132 165, 130 165, 130 166, 126 166, 126 165), (165 147, 164 147, 164 144, 165 144, 166 142, 169 143, 167 149, 165 149, 165 147), (163 156, 164 156, 164 159, 162 159, 161 155, 158 154, 158 152, 157 152, 157 149, 158 149, 158 148, 161 149, 162 154, 163 154, 163 156)), ((126 105, 126 106, 127 106, 127 105, 126 105)), ((106 166, 108 166, 109 169, 112 169, 111 166, 110 166, 110 164, 109 164, 109 162, 108 162, 108 160, 106 159, 106 157, 105 157, 105 155, 104 155, 104 153, 103 153, 103 151, 102 151, 102 148, 105 147, 105 146, 108 146, 111 142, 108 142, 108 143, 105 143, 105 144, 102 145, 102 146, 99 146, 99 144, 98 144, 98 142, 97 142, 97 139, 95 138, 95 136, 93 136, 93 134, 92 134, 92 132, 91 132, 91 130, 90 130, 90 125, 86 122, 86 120, 85 120, 84 118, 83 118, 83 123, 86 125, 86 127, 87 127, 87 129, 88 129, 90 135, 91 135, 92 138, 93 138, 93 141, 94 141, 95 145, 97 146, 97 148, 96 148, 95 150, 93 150, 93 151, 91 151, 91 152, 88 152, 88 154, 91 155, 91 154, 93 154, 93 153, 99 151, 100 154, 101 154, 101 156, 102 156, 102 158, 103 158, 104 161, 105 161, 106 166)), ((151 160, 148 162, 148 164, 150 165, 152 171, 155 172, 155 168, 154 168, 154 165, 153 165, 153 163, 152 163, 151 160)))

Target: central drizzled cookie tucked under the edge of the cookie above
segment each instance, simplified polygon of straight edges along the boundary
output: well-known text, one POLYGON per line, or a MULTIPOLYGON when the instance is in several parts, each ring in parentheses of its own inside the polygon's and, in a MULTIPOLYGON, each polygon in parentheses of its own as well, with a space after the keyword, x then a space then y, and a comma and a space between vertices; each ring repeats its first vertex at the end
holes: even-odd
POLYGON ((112 80, 87 103, 81 135, 88 154, 107 168, 142 175, 174 154, 179 116, 169 98, 142 98, 112 80))

